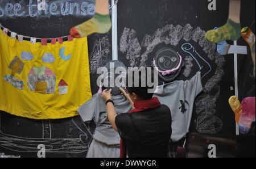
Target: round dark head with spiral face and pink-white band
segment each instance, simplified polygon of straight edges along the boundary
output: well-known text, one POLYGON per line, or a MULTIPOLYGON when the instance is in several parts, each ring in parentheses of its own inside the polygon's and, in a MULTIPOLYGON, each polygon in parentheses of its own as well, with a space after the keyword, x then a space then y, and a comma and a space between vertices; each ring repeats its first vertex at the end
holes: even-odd
POLYGON ((165 82, 174 81, 182 68, 182 57, 172 48, 162 48, 156 52, 152 65, 165 82))

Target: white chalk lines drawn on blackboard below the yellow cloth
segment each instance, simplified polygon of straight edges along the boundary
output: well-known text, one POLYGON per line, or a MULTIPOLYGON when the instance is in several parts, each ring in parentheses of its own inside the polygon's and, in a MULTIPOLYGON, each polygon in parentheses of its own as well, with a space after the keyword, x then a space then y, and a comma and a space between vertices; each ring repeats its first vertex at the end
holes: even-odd
POLYGON ((0 147, 15 152, 38 152, 38 145, 43 144, 46 146, 46 153, 84 153, 88 151, 89 141, 83 141, 82 136, 88 140, 92 138, 92 133, 81 119, 73 117, 72 122, 82 132, 79 138, 52 138, 50 120, 42 122, 42 138, 27 138, 3 133, 0 114, 0 147))

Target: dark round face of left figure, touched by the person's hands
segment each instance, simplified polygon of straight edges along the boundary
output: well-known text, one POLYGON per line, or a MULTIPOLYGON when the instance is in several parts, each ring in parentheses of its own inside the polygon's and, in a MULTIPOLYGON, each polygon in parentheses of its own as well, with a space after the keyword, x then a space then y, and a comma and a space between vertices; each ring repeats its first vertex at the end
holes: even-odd
POLYGON ((114 81, 116 78, 119 78, 119 79, 126 78, 127 71, 128 71, 127 67, 121 61, 110 61, 104 67, 106 67, 108 69, 108 73, 104 74, 104 81, 108 80, 108 87, 105 87, 104 83, 102 82, 102 84, 103 84, 102 91, 104 89, 110 90, 110 88, 112 88, 112 95, 121 94, 119 87, 117 87, 117 86, 110 87, 110 78, 114 79, 114 81), (115 71, 115 69, 117 69, 117 67, 123 67, 124 68, 123 70, 125 70, 125 71, 122 71, 119 74, 115 74, 114 72, 110 71, 110 69, 115 71))

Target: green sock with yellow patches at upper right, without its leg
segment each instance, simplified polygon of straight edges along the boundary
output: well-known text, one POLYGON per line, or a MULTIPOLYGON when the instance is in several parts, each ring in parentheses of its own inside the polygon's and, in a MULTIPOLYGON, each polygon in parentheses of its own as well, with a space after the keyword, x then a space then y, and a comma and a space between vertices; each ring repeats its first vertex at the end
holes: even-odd
POLYGON ((224 26, 210 30, 205 34, 205 39, 210 43, 218 43, 224 40, 238 40, 240 37, 241 24, 231 19, 228 19, 228 22, 224 26))

